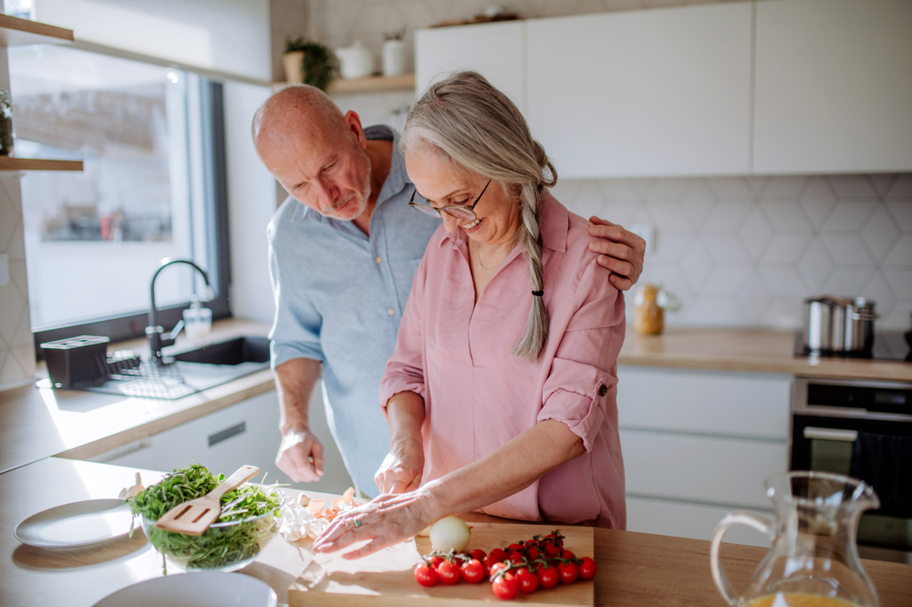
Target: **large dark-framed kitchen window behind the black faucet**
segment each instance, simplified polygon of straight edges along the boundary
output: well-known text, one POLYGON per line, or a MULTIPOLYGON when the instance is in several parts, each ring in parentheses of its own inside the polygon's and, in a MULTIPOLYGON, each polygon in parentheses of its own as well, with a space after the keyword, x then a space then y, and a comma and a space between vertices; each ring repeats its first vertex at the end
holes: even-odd
MULTIPOLYGON (((143 335, 166 257, 201 265, 216 293, 207 305, 230 314, 222 85, 66 46, 8 53, 16 155, 84 160, 82 172, 20 181, 36 345, 143 335)), ((205 289, 189 268, 162 273, 161 324, 194 293, 205 289)))

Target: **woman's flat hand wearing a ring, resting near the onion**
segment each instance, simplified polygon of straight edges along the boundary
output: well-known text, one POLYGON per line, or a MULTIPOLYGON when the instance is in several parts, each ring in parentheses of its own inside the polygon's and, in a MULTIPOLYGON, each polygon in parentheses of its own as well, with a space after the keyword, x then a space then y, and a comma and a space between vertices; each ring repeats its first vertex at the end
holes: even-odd
POLYGON ((343 559, 350 560, 408 540, 436 520, 429 503, 430 495, 421 489, 381 495, 358 509, 337 516, 314 540, 314 550, 335 552, 355 542, 371 540, 358 550, 342 555, 343 559))

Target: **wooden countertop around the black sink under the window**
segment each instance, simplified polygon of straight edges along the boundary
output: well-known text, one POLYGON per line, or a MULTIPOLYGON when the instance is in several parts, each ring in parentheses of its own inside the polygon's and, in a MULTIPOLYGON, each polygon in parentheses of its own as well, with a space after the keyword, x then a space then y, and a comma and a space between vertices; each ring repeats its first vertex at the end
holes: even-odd
MULTIPOLYGON (((268 331, 268 324, 232 319, 216 323, 210 341, 268 331)), ((179 339, 176 347, 183 345, 188 344, 179 339)), ((113 347, 139 352, 145 344, 113 347)), ((53 455, 91 458, 274 387, 272 371, 266 369, 179 400, 36 386, 5 390, 0 392, 0 473, 53 455)))

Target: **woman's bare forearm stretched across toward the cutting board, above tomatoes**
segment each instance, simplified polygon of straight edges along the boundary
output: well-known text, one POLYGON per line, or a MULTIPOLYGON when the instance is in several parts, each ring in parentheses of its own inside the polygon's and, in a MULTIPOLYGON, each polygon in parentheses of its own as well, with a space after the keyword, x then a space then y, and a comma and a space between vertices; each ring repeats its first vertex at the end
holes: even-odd
POLYGON ((422 489, 437 520, 507 498, 585 452, 583 440, 564 422, 546 419, 422 489))

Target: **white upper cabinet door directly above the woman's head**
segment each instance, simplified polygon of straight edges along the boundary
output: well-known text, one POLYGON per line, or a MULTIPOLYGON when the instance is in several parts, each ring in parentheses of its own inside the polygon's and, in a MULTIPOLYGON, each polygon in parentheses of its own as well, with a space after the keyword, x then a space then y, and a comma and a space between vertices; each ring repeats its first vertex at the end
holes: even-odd
POLYGON ((472 69, 525 111, 525 23, 420 29, 415 34, 415 92, 460 69, 472 69))

